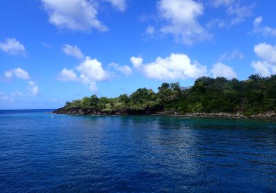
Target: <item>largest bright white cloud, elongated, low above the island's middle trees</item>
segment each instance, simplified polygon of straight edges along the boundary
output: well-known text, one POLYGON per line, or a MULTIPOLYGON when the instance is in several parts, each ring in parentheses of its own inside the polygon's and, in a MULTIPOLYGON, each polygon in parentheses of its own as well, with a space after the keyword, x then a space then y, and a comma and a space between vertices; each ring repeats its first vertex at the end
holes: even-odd
POLYGON ((169 57, 157 59, 152 63, 142 64, 141 58, 132 57, 133 65, 150 79, 177 80, 196 79, 207 74, 206 66, 191 63, 186 54, 170 54, 169 57))

